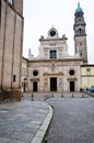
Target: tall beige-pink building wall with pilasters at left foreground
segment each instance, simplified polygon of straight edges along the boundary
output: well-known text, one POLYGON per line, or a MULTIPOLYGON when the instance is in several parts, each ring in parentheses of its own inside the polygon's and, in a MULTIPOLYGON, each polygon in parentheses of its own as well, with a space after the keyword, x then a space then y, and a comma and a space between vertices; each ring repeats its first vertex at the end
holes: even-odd
POLYGON ((22 46, 23 0, 0 0, 1 100, 8 98, 7 95, 20 100, 22 46))

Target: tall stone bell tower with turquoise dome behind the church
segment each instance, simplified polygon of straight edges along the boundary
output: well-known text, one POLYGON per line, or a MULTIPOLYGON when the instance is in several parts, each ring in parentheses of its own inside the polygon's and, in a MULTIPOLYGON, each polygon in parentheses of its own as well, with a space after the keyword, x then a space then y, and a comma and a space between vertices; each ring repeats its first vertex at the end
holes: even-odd
POLYGON ((87 46, 86 46, 86 23, 84 21, 84 12, 78 3, 78 8, 74 13, 74 52, 79 53, 84 63, 87 63, 87 46))

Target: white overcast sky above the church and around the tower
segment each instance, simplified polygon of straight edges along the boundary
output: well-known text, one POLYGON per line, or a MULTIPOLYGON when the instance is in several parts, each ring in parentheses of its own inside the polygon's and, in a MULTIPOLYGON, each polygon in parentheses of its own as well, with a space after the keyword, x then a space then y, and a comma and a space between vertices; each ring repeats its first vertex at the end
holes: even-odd
POLYGON ((51 26, 58 30, 59 36, 66 34, 69 54, 73 55, 73 24, 78 1, 86 22, 89 62, 94 63, 94 0, 24 0, 23 56, 28 56, 28 48, 34 56, 38 55, 38 40, 40 35, 46 37, 51 26))

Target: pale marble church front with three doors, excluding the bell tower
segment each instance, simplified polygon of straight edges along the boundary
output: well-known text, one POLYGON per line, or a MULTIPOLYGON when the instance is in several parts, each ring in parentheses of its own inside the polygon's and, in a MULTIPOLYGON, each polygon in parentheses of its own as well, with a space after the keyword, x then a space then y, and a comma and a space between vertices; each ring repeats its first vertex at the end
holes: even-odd
POLYGON ((39 55, 28 62, 28 91, 80 91, 83 61, 68 54, 67 37, 51 28, 39 38, 39 55))

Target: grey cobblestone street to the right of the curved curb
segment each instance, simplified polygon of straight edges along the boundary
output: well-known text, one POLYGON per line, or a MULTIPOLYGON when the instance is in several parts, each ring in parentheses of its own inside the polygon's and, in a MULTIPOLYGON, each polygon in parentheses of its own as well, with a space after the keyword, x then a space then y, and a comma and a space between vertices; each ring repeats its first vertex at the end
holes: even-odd
POLYGON ((47 143, 94 143, 94 98, 52 98, 47 143))

